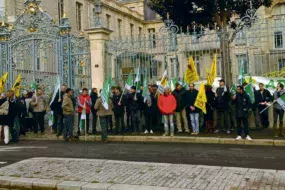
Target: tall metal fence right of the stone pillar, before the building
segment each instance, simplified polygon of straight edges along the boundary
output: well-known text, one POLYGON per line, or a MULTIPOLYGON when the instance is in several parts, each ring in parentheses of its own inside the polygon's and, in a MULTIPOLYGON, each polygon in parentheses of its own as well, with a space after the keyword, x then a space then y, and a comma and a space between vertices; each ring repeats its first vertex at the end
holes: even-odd
POLYGON ((150 82, 159 80, 164 69, 170 78, 182 78, 188 59, 193 56, 201 79, 206 79, 217 54, 218 76, 225 77, 231 64, 233 81, 239 71, 245 75, 264 76, 285 67, 284 17, 266 19, 260 11, 249 10, 244 18, 236 19, 238 29, 207 29, 193 25, 182 31, 171 20, 165 20, 158 32, 112 39, 106 44, 107 65, 114 66, 115 79, 123 84, 126 76, 140 67, 141 77, 150 82), (223 41, 229 42, 224 47, 223 41), (229 51, 229 57, 222 52, 229 51))

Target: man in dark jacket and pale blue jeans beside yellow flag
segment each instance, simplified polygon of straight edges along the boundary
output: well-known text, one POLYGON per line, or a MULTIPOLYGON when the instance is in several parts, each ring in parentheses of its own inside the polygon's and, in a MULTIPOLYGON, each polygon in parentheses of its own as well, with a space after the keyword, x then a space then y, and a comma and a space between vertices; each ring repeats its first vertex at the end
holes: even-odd
POLYGON ((192 83, 189 85, 189 91, 187 91, 186 95, 186 102, 187 102, 187 107, 189 109, 191 126, 192 126, 191 135, 199 134, 199 112, 201 110, 194 106, 197 96, 198 96, 198 90, 195 89, 195 84, 192 83))

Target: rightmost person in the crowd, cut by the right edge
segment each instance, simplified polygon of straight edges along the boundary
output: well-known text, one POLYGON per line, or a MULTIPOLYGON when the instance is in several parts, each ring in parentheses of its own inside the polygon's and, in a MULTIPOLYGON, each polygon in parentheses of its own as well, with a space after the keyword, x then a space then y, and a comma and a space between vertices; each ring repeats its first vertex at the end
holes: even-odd
MULTIPOLYGON (((273 94, 274 100, 277 100, 282 95, 285 94, 284 85, 282 83, 279 83, 277 85, 277 90, 273 94)), ((274 119, 274 137, 277 138, 279 136, 284 137, 284 129, 283 129, 283 117, 284 117, 284 109, 280 106, 278 102, 275 102, 273 104, 273 119, 274 119), (279 132, 277 128, 277 120, 279 118, 279 132)))

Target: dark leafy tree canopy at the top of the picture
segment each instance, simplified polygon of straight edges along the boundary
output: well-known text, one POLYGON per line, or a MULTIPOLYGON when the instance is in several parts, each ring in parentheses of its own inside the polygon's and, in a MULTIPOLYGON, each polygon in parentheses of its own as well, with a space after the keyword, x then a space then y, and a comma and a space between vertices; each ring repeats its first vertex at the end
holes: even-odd
POLYGON ((150 0, 149 6, 163 19, 170 18, 185 31, 188 26, 197 25, 213 28, 231 26, 236 28, 234 16, 242 18, 248 9, 270 7, 272 0, 150 0), (251 3, 252 2, 252 3, 251 3))

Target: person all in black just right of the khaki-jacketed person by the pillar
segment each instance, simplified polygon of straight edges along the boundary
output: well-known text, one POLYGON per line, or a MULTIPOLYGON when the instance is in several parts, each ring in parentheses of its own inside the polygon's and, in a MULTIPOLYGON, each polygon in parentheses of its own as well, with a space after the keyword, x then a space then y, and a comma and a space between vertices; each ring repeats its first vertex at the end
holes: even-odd
POLYGON ((125 132, 125 96, 122 95, 122 90, 119 86, 115 87, 115 94, 112 97, 115 115, 115 132, 124 135, 125 132))

